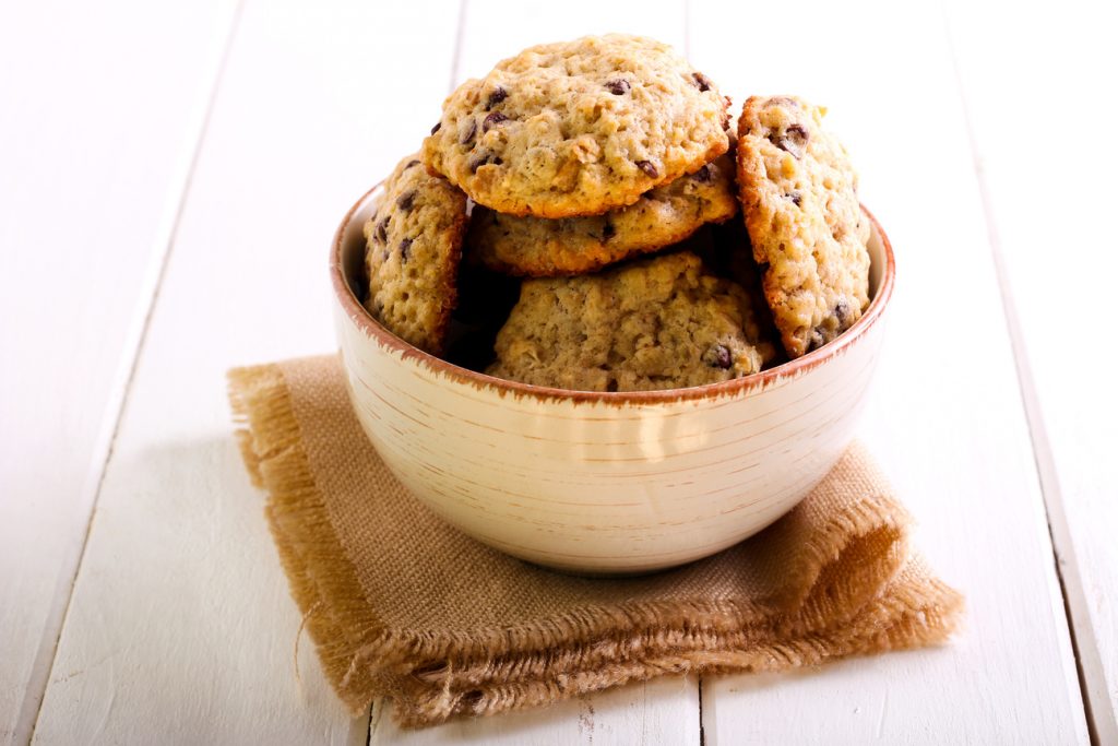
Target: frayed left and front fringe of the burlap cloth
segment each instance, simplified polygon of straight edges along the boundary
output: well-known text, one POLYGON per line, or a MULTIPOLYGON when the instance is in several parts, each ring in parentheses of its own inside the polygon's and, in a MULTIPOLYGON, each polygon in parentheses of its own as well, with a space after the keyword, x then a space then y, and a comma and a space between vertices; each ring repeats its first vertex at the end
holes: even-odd
MULTIPOLYGON (((247 425, 236 434, 246 468, 253 483, 268 491, 265 512, 292 595, 326 679, 354 714, 378 697, 390 697, 397 721, 420 727, 664 673, 779 670, 859 652, 935 644, 951 633, 961 611, 961 597, 932 582, 923 591, 934 601, 916 613, 920 625, 894 622, 896 629, 878 630, 875 643, 852 640, 840 645, 842 629, 819 626, 821 620, 835 621, 828 614, 835 611, 831 606, 836 588, 816 588, 818 577, 812 577, 802 598, 807 603, 790 617, 774 615, 771 607, 697 599, 588 607, 537 624, 470 633, 389 630, 367 602, 330 521, 282 367, 230 370, 229 398, 236 421, 247 425)), ((903 511, 894 522, 880 508, 858 506, 830 528, 852 539, 896 531, 896 565, 879 578, 885 582, 901 569, 907 522, 903 511)), ((849 546, 836 550, 821 537, 818 551, 834 557, 849 546)), ((856 611, 846 610, 839 620, 856 611)))

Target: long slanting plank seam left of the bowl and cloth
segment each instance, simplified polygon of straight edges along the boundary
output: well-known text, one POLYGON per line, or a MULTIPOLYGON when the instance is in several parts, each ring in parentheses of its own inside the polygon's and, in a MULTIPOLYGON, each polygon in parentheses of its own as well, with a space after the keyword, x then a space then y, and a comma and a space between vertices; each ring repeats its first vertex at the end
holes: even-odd
MULTIPOLYGON (((46 699, 47 687, 49 686, 50 678, 54 673, 58 643, 61 640, 63 630, 66 627, 66 622, 69 617, 74 587, 77 582, 77 577, 82 572, 82 564, 85 559, 85 550, 89 541, 97 502, 101 498, 102 488, 104 487, 105 474, 108 472, 108 464, 113 459, 116 440, 120 435, 121 424, 124 422, 124 413, 127 408, 129 394, 131 393, 132 384, 135 379, 140 358, 143 353, 144 342, 146 341, 148 331, 151 327, 151 320, 159 301, 159 291, 167 274, 167 267, 171 257, 171 249, 174 245, 174 239, 179 232, 179 225, 182 220, 187 197, 190 193, 190 186, 193 181, 195 170, 198 166, 202 143, 206 139, 206 132, 209 129, 210 116, 214 112, 217 93, 220 89, 221 78, 228 65, 229 53, 233 48, 236 29, 240 21, 243 6, 244 0, 236 0, 233 12, 227 16, 228 21, 225 25, 225 38, 218 46, 220 53, 217 55, 216 65, 214 65, 209 76, 210 79, 208 91, 202 100, 205 103, 201 106, 201 116, 199 117, 197 126, 192 129, 193 132, 190 138, 193 140, 192 152, 187 161, 187 167, 181 181, 179 181, 177 188, 172 189, 170 193, 170 198, 176 205, 173 217, 168 223, 168 227, 160 230, 160 235, 157 238, 155 244, 157 246, 161 246, 162 251, 155 257, 154 262, 152 262, 154 270, 150 273, 150 278, 144 283, 146 291, 140 295, 140 300, 138 301, 138 311, 142 312, 142 321, 135 325, 134 330, 127 337, 127 342, 121 358, 122 372, 117 375, 117 380, 120 383, 113 386, 113 394, 105 407, 106 426, 102 436, 98 438, 98 446, 93 456, 94 462, 100 462, 100 468, 95 470, 91 475, 91 479, 87 480, 87 485, 92 484, 92 489, 89 487, 83 489, 83 492, 88 492, 89 497, 80 503, 86 508, 80 513, 84 516, 85 523, 84 530, 82 531, 82 538, 76 547, 76 550, 66 557, 63 567, 59 570, 58 582, 54 594, 53 608, 47 618, 47 623, 44 626, 42 636, 39 642, 39 650, 36 653, 35 662, 31 665, 31 677, 27 682, 23 702, 20 706, 19 716, 16 720, 16 729, 12 733, 12 743, 22 742, 30 744, 35 738, 35 729, 38 727, 39 715, 42 711, 42 702, 46 699), (111 427, 107 426, 108 422, 112 423, 111 427), (65 595, 65 603, 60 601, 63 595, 65 595)), ((220 29, 220 27, 218 28, 220 29)), ((206 91, 206 88, 203 88, 203 91, 206 91)), ((136 315, 140 315, 140 313, 136 315)))

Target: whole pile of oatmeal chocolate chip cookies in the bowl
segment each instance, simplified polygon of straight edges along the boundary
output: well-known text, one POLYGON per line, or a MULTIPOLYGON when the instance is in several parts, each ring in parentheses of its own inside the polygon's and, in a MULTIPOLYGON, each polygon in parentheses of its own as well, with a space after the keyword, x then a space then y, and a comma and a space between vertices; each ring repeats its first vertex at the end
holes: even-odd
POLYGON ((846 154, 800 100, 750 98, 736 143, 728 106, 638 37, 501 62, 385 182, 366 306, 444 356, 459 295, 492 310, 494 277, 523 278, 475 365, 579 390, 700 386, 771 365, 777 336, 789 358, 825 344, 868 304, 846 154))

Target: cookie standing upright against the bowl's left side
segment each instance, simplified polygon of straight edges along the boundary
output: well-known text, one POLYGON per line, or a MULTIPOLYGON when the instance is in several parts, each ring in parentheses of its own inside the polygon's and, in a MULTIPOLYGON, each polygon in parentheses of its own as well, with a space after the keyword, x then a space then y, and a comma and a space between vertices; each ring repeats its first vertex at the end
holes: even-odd
POLYGON ((415 155, 385 181, 364 224, 366 308, 404 341, 442 355, 466 228, 466 196, 415 155))

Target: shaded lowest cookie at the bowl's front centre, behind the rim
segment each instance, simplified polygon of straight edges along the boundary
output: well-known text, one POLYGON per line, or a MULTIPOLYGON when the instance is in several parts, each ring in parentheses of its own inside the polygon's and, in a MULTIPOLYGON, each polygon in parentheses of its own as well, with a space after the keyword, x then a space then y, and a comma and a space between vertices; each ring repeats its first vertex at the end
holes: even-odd
POLYGON ((491 376, 585 391, 701 386, 771 353, 749 299, 690 252, 597 275, 532 278, 496 338, 491 376))

